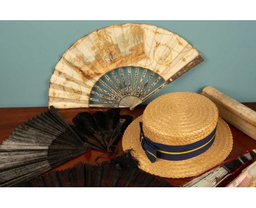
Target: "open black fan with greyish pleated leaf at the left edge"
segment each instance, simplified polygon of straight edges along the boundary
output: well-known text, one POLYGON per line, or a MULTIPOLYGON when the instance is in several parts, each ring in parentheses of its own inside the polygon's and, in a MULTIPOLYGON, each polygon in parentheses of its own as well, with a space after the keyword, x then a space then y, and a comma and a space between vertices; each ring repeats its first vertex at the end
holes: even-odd
POLYGON ((16 127, 0 146, 0 186, 15 186, 88 150, 51 106, 16 127))

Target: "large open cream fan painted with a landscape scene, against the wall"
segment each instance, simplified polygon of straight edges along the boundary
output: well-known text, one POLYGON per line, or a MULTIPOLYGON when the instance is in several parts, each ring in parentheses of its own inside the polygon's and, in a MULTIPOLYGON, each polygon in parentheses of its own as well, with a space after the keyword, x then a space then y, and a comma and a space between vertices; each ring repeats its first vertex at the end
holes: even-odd
POLYGON ((56 64, 49 106, 133 109, 202 61, 181 36, 159 27, 127 23, 98 29, 56 64))

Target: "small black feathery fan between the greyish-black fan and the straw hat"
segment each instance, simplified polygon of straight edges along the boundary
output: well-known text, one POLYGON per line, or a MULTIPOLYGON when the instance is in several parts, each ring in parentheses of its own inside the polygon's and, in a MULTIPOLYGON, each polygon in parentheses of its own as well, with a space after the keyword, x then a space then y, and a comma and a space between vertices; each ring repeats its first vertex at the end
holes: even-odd
POLYGON ((73 118, 72 127, 90 148, 114 152, 114 144, 133 119, 131 115, 120 115, 119 112, 120 109, 116 108, 93 114, 78 113, 73 118))

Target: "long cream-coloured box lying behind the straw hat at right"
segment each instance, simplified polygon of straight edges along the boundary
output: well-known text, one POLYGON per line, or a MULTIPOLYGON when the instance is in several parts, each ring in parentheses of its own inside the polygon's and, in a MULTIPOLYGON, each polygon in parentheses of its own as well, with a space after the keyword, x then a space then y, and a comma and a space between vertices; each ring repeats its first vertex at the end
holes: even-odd
POLYGON ((255 111, 210 86, 203 88, 202 94, 216 104, 220 117, 256 140, 255 111))

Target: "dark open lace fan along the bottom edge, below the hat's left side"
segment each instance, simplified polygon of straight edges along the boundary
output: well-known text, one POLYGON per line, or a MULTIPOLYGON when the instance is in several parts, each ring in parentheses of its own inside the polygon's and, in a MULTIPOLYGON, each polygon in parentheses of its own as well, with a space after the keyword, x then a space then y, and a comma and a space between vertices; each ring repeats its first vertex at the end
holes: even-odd
POLYGON ((158 176, 143 172, 138 162, 126 152, 108 164, 92 166, 78 163, 73 168, 52 171, 19 187, 171 187, 158 176))

